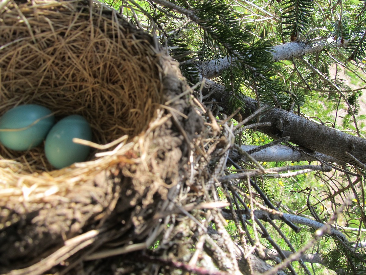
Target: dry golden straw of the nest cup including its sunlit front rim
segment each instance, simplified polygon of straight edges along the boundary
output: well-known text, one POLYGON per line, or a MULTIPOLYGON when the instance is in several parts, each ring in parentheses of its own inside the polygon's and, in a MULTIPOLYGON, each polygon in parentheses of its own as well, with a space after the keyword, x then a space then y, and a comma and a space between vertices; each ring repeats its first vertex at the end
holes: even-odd
POLYGON ((19 214, 70 201, 78 188, 94 192, 101 171, 140 163, 156 128, 151 125, 167 121, 158 110, 167 98, 153 39, 108 8, 89 4, 8 1, 0 10, 0 115, 29 103, 48 107, 56 119, 80 114, 91 125, 94 147, 89 161, 54 170, 43 145, 18 152, 0 144, 0 230, 16 222, 7 221, 12 210, 6 209, 19 214))

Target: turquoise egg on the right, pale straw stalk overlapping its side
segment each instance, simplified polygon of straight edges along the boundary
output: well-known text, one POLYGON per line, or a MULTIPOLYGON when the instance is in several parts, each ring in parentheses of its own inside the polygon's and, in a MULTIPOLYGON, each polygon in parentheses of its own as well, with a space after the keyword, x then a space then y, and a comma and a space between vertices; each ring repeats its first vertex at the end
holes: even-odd
POLYGON ((74 137, 91 140, 91 128, 81 115, 69 115, 49 131, 45 141, 45 154, 56 169, 85 161, 88 157, 90 147, 72 142, 74 137))

